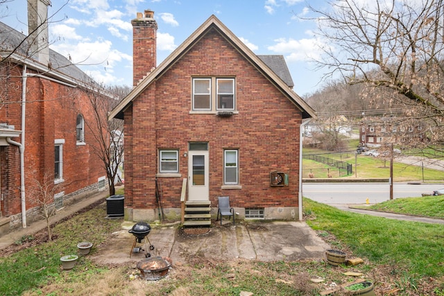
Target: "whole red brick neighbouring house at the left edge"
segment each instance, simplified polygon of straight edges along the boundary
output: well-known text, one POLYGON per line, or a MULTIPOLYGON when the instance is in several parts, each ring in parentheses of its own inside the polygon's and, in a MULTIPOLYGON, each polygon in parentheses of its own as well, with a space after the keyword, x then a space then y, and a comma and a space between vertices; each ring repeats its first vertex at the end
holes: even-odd
POLYGON ((0 234, 37 218, 38 184, 53 184, 56 207, 105 189, 86 124, 93 82, 49 49, 47 27, 38 23, 48 5, 28 1, 29 37, 0 23, 0 234))

